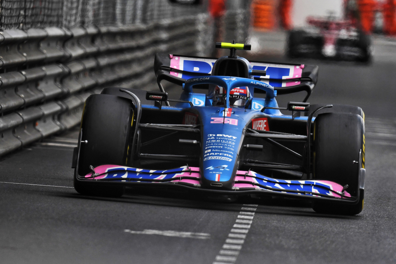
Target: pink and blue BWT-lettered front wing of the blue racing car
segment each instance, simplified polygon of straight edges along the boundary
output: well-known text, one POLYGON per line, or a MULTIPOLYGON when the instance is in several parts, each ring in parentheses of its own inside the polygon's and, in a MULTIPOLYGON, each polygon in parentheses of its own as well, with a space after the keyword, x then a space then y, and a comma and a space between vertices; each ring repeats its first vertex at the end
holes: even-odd
POLYGON ((274 179, 254 171, 237 171, 232 190, 204 189, 200 184, 198 167, 183 166, 168 170, 139 169, 119 165, 101 165, 78 180, 85 182, 112 182, 118 184, 148 184, 151 186, 180 186, 201 192, 244 195, 261 194, 285 196, 300 199, 331 199, 333 201, 354 203, 358 197, 352 197, 341 186, 329 180, 282 180, 274 179))

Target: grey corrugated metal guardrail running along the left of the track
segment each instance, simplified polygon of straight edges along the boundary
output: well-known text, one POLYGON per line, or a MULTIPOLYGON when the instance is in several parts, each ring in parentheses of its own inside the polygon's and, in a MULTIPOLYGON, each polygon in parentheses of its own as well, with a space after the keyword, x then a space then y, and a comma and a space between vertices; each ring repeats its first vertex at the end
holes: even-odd
POLYGON ((154 54, 196 55, 197 21, 0 32, 0 156, 77 125, 104 87, 154 89, 154 54))

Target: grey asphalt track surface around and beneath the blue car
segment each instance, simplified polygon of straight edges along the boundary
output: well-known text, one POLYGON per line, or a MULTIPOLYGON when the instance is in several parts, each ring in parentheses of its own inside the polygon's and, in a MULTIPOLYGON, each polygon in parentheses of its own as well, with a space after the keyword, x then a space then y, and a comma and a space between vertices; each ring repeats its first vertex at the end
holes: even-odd
POLYGON ((310 103, 354 104, 366 114, 359 215, 133 189, 116 199, 82 196, 72 188, 73 129, 0 160, 0 263, 395 263, 396 53, 381 54, 371 65, 299 60, 320 66, 310 103))

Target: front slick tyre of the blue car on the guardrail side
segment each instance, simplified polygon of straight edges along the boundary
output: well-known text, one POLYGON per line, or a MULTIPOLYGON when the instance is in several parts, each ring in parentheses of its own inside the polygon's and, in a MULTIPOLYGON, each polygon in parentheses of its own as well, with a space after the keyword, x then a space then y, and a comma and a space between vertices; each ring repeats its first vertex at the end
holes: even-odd
MULTIPOLYGON (((129 143, 133 136, 133 103, 114 95, 91 95, 82 116, 82 139, 78 171, 74 176, 74 188, 84 195, 122 196, 123 186, 91 184, 77 181, 77 174, 84 176, 103 164, 126 165, 129 143)), ((95 182, 97 183, 97 182, 95 182)))

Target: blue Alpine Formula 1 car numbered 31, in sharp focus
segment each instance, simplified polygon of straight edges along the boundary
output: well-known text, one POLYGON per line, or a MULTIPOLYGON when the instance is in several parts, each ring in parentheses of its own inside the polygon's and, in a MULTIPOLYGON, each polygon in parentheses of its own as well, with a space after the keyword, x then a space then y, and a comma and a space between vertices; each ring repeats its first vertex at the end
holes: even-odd
POLYGON ((356 215, 364 199, 364 113, 306 103, 318 67, 157 54, 159 92, 109 87, 85 104, 74 150, 80 194, 184 188, 210 197, 307 199, 320 213, 356 215), (180 85, 169 99, 162 81, 180 85), (276 96, 306 91, 303 102, 276 96), (286 113, 282 113, 282 112, 286 113))

